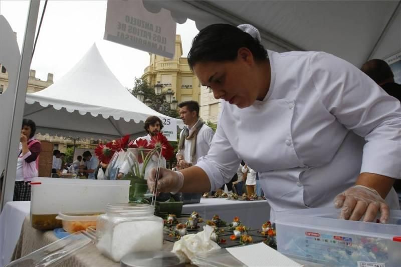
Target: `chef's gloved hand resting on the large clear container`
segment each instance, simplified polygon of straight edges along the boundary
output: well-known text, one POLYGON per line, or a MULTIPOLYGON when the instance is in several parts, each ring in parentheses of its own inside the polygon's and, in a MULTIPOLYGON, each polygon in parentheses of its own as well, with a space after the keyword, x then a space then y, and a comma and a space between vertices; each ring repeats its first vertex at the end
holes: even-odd
POLYGON ((380 211, 380 223, 386 223, 390 210, 384 199, 376 190, 355 185, 348 188, 334 198, 334 206, 341 208, 340 218, 346 220, 359 220, 363 215, 363 221, 373 221, 380 211))

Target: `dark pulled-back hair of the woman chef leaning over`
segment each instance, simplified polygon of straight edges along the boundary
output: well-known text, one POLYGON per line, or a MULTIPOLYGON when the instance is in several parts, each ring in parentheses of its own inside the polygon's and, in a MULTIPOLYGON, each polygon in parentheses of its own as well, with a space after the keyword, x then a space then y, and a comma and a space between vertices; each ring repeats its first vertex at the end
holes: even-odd
POLYGON ((193 38, 188 65, 193 70, 199 62, 234 61, 242 47, 248 48, 256 61, 267 60, 266 49, 250 34, 230 24, 212 24, 193 38))

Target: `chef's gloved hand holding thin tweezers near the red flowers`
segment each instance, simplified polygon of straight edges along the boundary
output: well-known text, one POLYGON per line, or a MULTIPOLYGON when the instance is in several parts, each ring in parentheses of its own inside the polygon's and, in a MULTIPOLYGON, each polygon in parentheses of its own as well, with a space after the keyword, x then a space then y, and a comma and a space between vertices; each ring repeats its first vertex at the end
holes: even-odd
POLYGON ((156 186, 156 195, 159 192, 171 192, 175 194, 184 185, 184 175, 181 172, 165 168, 160 168, 159 179, 156 184, 156 172, 157 168, 151 169, 147 177, 147 186, 151 193, 154 192, 154 187, 156 186))

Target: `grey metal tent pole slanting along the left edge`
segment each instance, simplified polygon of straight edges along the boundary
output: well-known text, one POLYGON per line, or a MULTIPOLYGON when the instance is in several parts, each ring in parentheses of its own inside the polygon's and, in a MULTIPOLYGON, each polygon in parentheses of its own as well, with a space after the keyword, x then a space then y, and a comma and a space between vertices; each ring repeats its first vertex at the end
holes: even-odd
POLYGON ((24 44, 22 48, 20 68, 17 78, 17 90, 14 98, 13 120, 7 149, 6 172, 3 184, 3 194, 0 199, 0 208, 8 201, 13 201, 14 185, 17 171, 18 143, 21 135, 21 125, 24 116, 25 98, 27 96, 28 77, 32 61, 36 24, 39 14, 39 0, 31 0, 28 11, 27 26, 25 28, 24 44))

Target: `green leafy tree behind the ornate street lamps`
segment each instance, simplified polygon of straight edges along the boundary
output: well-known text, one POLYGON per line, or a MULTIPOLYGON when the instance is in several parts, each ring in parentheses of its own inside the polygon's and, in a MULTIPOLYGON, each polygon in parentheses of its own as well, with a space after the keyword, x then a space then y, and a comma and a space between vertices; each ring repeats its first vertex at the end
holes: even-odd
POLYGON ((150 107, 151 109, 168 117, 179 118, 178 112, 176 110, 171 110, 170 104, 165 101, 165 94, 167 91, 163 90, 160 95, 156 95, 154 88, 146 80, 135 77, 134 88, 131 90, 131 94, 136 96, 139 91, 145 94, 144 99, 150 99, 155 103, 155 106, 150 107))

